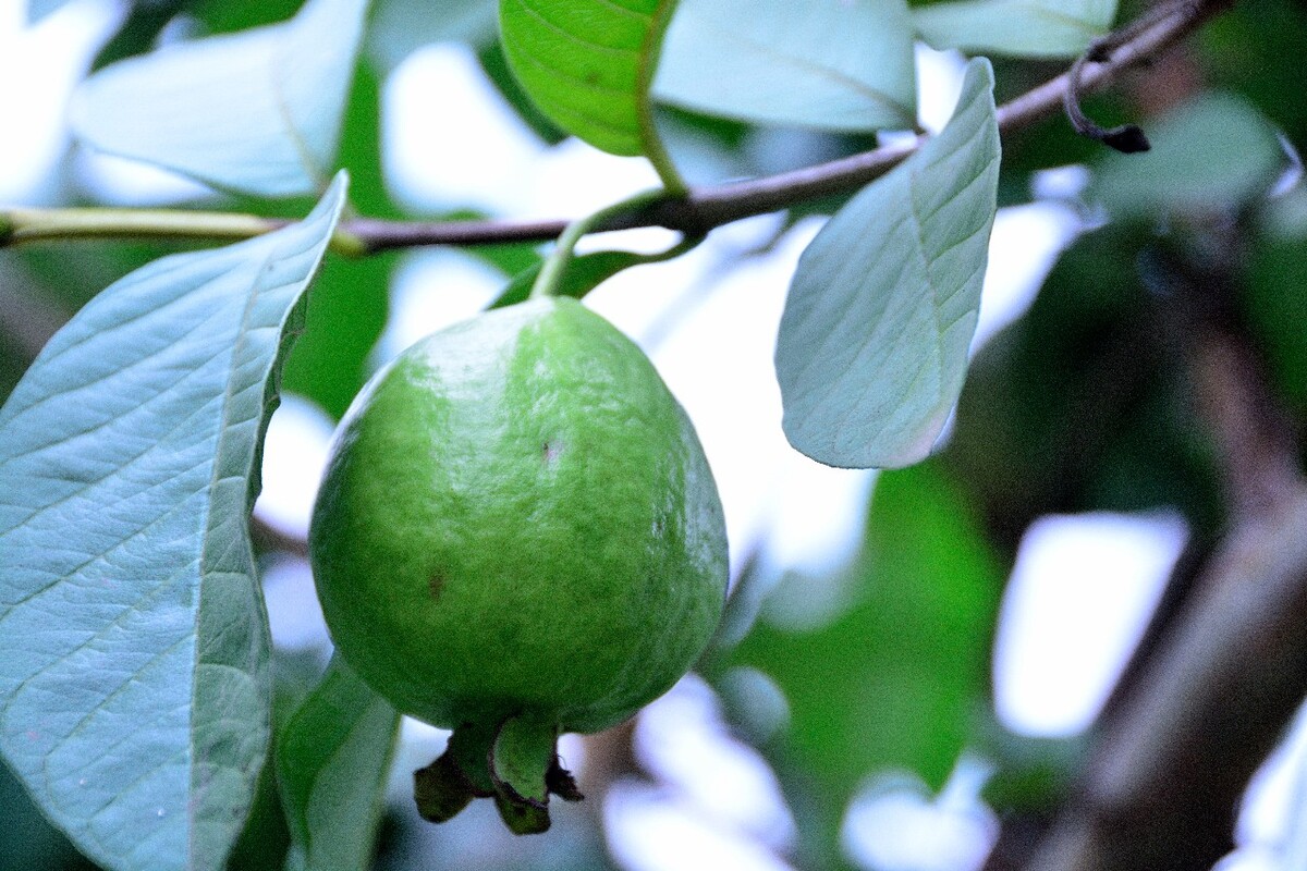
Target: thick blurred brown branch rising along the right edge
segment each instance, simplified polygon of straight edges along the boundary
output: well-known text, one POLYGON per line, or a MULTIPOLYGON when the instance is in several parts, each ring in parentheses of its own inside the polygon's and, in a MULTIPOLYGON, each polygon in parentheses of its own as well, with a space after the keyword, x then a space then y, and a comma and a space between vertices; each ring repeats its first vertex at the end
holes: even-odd
POLYGON ((1132 662, 1026 871, 1206 871, 1234 846, 1239 799, 1307 696, 1298 444, 1230 317, 1230 277, 1172 274, 1197 312, 1179 326, 1230 528, 1132 662))

